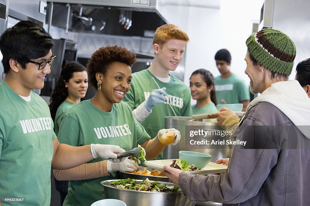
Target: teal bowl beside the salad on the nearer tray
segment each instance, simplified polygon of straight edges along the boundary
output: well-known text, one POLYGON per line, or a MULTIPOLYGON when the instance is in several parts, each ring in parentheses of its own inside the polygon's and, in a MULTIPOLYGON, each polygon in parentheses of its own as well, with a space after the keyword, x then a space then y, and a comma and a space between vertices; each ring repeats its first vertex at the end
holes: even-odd
POLYGON ((188 164, 194 164, 201 170, 210 162, 211 155, 201 152, 179 151, 179 159, 184 159, 188 164))

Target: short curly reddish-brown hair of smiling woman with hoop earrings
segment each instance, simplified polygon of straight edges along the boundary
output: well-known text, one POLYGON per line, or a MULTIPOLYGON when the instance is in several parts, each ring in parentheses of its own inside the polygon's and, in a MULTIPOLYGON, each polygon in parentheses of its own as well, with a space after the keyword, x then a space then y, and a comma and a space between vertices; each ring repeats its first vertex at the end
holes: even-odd
POLYGON ((97 90, 96 73, 105 75, 112 63, 121 62, 130 67, 136 62, 136 54, 126 48, 115 46, 100 47, 91 55, 86 65, 88 70, 88 81, 97 90))

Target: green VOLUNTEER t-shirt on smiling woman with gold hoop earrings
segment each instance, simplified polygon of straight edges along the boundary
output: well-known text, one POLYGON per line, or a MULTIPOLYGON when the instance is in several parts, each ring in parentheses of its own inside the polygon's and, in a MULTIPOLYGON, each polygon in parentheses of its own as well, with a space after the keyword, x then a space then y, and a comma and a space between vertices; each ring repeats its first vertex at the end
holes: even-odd
MULTIPOLYGON (((58 133, 60 143, 73 146, 90 144, 118 145, 126 151, 150 139, 132 114, 127 103, 114 103, 110 112, 101 111, 91 100, 74 105, 61 119, 58 133)), ((102 158, 90 162, 102 161, 102 158)), ((89 163, 90 163, 89 162, 89 163)), ((64 206, 86 206, 104 199, 101 181, 119 179, 119 173, 82 181, 70 181, 64 206)))

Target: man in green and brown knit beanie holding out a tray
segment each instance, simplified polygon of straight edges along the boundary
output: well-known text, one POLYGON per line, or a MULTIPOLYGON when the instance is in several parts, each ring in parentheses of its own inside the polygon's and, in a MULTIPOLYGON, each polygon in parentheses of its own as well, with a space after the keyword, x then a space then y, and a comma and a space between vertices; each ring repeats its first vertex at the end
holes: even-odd
POLYGON ((215 117, 228 117, 224 126, 239 122, 231 140, 247 144, 233 145, 223 174, 195 176, 169 166, 164 167, 165 174, 194 202, 308 205, 310 99, 298 81, 288 81, 295 45, 274 29, 250 35, 246 45, 250 91, 261 95, 249 104, 240 121, 227 109, 215 117))

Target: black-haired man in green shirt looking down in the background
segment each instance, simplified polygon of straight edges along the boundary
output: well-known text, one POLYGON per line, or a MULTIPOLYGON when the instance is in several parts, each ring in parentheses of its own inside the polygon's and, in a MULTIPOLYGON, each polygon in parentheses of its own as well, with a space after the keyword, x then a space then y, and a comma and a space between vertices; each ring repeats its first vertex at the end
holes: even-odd
POLYGON ((242 103, 242 111, 250 103, 250 90, 243 79, 230 71, 231 55, 227 49, 215 54, 216 66, 221 75, 215 78, 216 99, 219 104, 242 103))

